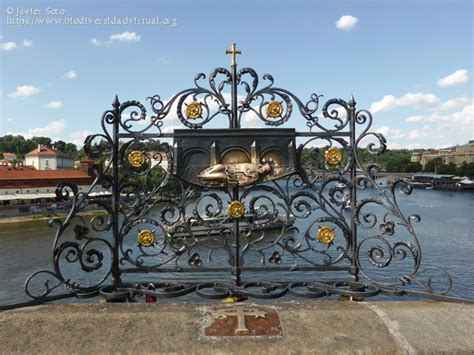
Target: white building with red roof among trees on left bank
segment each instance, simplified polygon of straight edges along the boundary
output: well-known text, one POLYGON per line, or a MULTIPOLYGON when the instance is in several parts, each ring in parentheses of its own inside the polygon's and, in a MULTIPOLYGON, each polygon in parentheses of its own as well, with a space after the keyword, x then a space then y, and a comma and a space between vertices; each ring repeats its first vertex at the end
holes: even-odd
POLYGON ((74 168, 74 159, 66 153, 38 144, 38 148, 25 155, 25 165, 37 170, 61 170, 74 168))

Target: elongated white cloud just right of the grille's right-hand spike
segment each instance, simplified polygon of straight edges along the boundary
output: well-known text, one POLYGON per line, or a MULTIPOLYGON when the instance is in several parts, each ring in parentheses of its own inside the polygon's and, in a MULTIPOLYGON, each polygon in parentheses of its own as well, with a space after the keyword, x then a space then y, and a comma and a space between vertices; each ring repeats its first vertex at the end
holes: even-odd
POLYGON ((399 98, 393 95, 385 95, 382 100, 372 103, 372 113, 390 111, 397 107, 413 107, 416 109, 430 109, 436 107, 439 99, 433 94, 408 93, 399 98))

